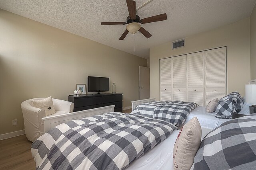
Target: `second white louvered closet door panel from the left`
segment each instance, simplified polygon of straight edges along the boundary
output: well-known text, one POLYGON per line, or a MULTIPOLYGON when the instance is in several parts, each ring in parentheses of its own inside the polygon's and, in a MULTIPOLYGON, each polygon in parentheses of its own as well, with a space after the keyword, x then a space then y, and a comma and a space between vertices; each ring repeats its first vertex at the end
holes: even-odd
POLYGON ((186 102, 186 55, 172 57, 173 100, 186 102))

